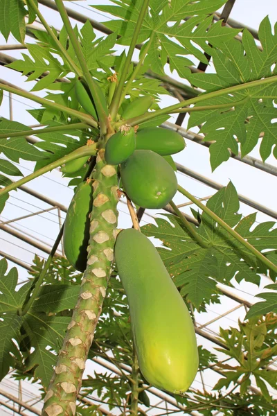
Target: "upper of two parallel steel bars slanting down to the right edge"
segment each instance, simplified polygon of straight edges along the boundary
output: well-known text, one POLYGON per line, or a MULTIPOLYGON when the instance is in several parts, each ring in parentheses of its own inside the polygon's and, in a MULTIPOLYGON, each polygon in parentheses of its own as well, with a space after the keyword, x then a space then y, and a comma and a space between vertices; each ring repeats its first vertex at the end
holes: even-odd
MULTIPOLYGON (((209 148, 211 146, 210 141, 203 141, 203 137, 201 135, 197 135, 197 133, 189 132, 184 127, 180 127, 177 124, 170 123, 169 121, 166 121, 161 125, 163 128, 168 128, 168 130, 173 130, 175 132, 178 132, 179 135, 185 137, 186 139, 190 141, 195 141, 197 144, 201 144, 202 146, 205 146, 209 148)), ((238 160, 239 162, 243 162, 245 164, 249 164, 253 168, 260 169, 260 171, 264 171, 267 173, 270 173, 271 175, 277 176, 277 168, 275 166, 272 166, 267 163, 263 163, 259 159, 256 159, 255 157, 251 156, 244 156, 241 157, 240 153, 238 155, 234 155, 230 152, 230 157, 233 159, 238 160)))

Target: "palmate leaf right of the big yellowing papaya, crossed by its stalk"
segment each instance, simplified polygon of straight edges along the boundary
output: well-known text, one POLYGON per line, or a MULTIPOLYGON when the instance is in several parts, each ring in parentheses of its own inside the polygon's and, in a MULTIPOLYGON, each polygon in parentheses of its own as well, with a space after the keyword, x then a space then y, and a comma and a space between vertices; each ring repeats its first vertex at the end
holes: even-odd
MULTIPOLYGON (((235 229, 241 230, 244 239, 256 245, 258 250, 276 248, 276 230, 271 230, 272 223, 263 223, 250 231, 255 216, 240 221, 238 195, 231 182, 208 200, 207 207, 231 227, 237 226, 235 229)), ((197 309, 209 302, 217 302, 217 282, 231 285, 231 279, 235 277, 239 282, 244 279, 259 284, 256 257, 206 214, 202 214, 199 227, 193 227, 209 243, 208 248, 202 248, 194 241, 179 218, 166 217, 170 222, 157 218, 157 226, 145 225, 142 232, 162 241, 163 247, 158 251, 168 272, 181 295, 197 309)))

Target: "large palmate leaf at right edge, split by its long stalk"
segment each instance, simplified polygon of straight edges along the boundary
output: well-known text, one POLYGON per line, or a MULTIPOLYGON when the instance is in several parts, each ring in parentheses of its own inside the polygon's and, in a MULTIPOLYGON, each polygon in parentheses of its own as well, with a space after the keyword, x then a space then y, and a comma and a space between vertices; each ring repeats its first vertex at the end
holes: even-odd
MULTIPOLYGON (((215 45, 217 49, 211 49, 216 74, 195 73, 189 77, 190 82, 212 92, 274 75, 272 66, 277 59, 277 33, 271 33, 268 17, 262 20, 258 33, 262 51, 256 46, 251 33, 244 29, 242 43, 229 40, 215 45)), ((277 84, 273 83, 212 98, 196 105, 208 107, 230 104, 225 110, 193 112, 188 121, 188 128, 204 123, 200 132, 205 134, 204 140, 213 141, 210 146, 213 169, 229 159, 229 149, 238 154, 238 141, 242 156, 250 153, 258 143, 261 132, 264 132, 260 145, 262 160, 265 161, 272 150, 277 157, 276 98, 277 84)))

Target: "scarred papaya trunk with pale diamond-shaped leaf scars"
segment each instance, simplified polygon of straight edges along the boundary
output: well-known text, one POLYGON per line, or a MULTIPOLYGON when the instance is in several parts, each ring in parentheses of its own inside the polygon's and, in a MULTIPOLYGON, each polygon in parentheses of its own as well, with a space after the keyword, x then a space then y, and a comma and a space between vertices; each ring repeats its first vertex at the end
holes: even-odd
POLYGON ((100 149, 93 171, 93 210, 87 269, 44 399, 42 416, 75 415, 87 354, 111 275, 118 218, 118 186, 116 168, 106 164, 104 155, 105 150, 100 149))

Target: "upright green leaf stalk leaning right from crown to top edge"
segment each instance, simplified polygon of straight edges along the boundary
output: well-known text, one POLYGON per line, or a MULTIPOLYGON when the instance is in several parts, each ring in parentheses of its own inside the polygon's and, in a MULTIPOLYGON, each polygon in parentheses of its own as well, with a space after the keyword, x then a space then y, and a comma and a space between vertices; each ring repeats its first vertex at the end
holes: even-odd
POLYGON ((136 28, 134 29, 134 35, 132 37, 132 41, 131 44, 129 46, 129 51, 127 53, 127 58, 126 58, 126 62, 125 65, 123 67, 123 71, 120 75, 119 81, 118 81, 118 87, 116 88, 116 91, 114 93, 114 97, 111 101, 111 106, 110 106, 110 114, 111 114, 111 120, 114 120, 116 118, 116 114, 118 112, 118 107, 120 105, 120 98, 121 95, 123 94, 123 88, 124 88, 124 84, 125 84, 125 80, 127 78, 127 73, 129 71, 129 65, 131 63, 132 60, 132 56, 134 53, 134 49, 136 46, 136 41, 138 40, 139 37, 139 32, 141 31, 141 26, 143 24, 143 19, 145 16, 145 12, 146 10, 148 10, 148 3, 149 0, 145 0, 143 1, 143 5, 141 7, 141 11, 139 13, 139 18, 136 22, 136 28))

